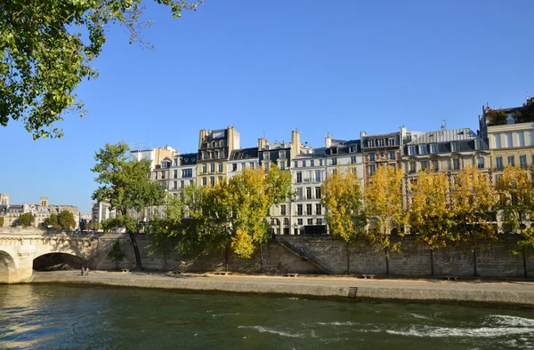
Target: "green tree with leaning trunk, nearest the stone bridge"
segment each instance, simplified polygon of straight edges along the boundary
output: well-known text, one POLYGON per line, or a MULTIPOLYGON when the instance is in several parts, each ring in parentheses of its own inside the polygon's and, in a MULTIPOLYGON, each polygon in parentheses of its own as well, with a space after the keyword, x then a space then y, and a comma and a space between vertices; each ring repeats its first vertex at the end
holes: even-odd
POLYGON ((135 262, 142 269, 141 254, 135 240, 137 223, 127 216, 129 209, 142 211, 148 205, 158 205, 163 192, 158 183, 150 181, 150 161, 128 160, 129 148, 124 142, 106 144, 94 155, 97 162, 91 171, 98 174, 94 179, 101 186, 93 192, 93 200, 109 203, 117 211, 112 223, 125 227, 134 247, 135 262))

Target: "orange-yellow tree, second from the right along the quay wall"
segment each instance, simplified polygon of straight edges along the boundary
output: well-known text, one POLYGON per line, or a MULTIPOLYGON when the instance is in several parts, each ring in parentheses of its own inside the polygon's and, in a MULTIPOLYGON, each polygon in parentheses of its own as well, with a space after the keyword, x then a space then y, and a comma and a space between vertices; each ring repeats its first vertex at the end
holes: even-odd
POLYGON ((481 241, 498 239, 492 217, 497 194, 486 176, 469 165, 458 171, 452 199, 457 227, 455 240, 473 252, 473 274, 476 276, 476 249, 481 241))

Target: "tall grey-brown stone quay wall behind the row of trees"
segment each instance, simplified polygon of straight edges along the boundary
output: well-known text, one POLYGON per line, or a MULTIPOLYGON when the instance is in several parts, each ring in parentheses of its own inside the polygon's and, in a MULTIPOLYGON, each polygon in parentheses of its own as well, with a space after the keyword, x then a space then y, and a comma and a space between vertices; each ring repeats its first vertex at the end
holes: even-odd
MULTIPOLYGON (((473 253, 457 247, 445 247, 431 251, 413 237, 405 238, 400 252, 390 253, 389 259, 382 251, 365 241, 348 245, 344 241, 328 235, 284 235, 283 239, 297 249, 306 251, 334 274, 386 274, 386 265, 390 275, 429 276, 433 265, 434 275, 473 276, 473 253), (433 264, 431 265, 431 262, 433 264)), ((114 269, 115 263, 106 255, 111 245, 118 240, 125 259, 120 268, 134 269, 135 256, 128 235, 103 234, 97 237, 96 247, 89 259, 89 266, 96 269, 114 269)), ((147 246, 150 235, 136 235, 141 252, 142 267, 153 270, 181 270, 183 272, 223 271, 228 263, 228 270, 240 273, 299 273, 320 274, 320 268, 278 243, 270 242, 256 250, 251 259, 236 258, 231 252, 215 251, 198 259, 182 259, 175 251, 150 255, 147 246)), ((506 237, 505 242, 483 243, 476 251, 477 275, 486 277, 522 278, 524 276, 521 255, 514 256, 510 250, 514 246, 514 236, 506 237)), ((534 277, 534 259, 526 262, 529 277, 534 277)))

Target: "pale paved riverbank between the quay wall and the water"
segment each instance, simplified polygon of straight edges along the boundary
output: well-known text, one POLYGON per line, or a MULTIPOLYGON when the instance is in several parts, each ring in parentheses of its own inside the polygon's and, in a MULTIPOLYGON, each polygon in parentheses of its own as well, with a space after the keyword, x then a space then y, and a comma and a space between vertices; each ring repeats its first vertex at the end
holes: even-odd
POLYGON ((100 284, 174 290, 282 294, 295 297, 386 299, 534 306, 534 282, 358 279, 352 276, 171 274, 157 272, 34 272, 29 283, 100 284), (350 295, 351 293, 351 295, 350 295))

